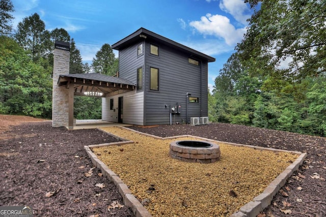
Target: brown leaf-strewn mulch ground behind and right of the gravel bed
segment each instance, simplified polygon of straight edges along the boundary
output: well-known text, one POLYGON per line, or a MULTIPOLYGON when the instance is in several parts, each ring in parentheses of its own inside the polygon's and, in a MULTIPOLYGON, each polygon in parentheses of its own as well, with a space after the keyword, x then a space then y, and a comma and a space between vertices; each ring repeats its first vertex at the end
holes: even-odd
POLYGON ((260 216, 326 216, 326 138, 324 137, 229 123, 130 128, 160 137, 194 135, 225 142, 307 152, 304 164, 287 180, 271 205, 265 208, 260 216))

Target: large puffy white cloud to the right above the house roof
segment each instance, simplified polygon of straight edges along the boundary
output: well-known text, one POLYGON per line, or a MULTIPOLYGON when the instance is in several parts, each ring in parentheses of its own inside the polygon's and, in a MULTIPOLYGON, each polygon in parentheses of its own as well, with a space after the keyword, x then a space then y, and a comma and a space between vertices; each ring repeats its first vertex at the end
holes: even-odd
POLYGON ((206 16, 201 17, 200 21, 192 21, 189 25, 203 35, 223 38, 229 46, 235 46, 243 38, 243 34, 246 33, 245 27, 236 29, 230 23, 229 18, 219 14, 206 14, 206 16))

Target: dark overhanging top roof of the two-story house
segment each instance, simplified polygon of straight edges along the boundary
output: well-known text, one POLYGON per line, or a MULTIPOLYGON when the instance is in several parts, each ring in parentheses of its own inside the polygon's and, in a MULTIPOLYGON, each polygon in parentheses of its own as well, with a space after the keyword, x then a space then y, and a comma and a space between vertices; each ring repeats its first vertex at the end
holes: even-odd
POLYGON ((112 48, 116 49, 116 50, 120 50, 120 49, 123 49, 125 47, 130 46, 133 43, 138 42, 142 38, 144 38, 144 39, 151 38, 153 40, 160 41, 160 42, 162 42, 164 44, 167 44, 167 45, 169 45, 171 47, 177 48, 179 50, 183 50, 185 52, 188 52, 188 53, 194 54, 194 55, 196 55, 198 57, 201 57, 203 59, 206 59, 208 62, 215 61, 214 57, 208 56, 208 55, 206 55, 204 53, 201 53, 201 52, 199 52, 197 50, 194 50, 192 48, 184 46, 184 45, 182 45, 182 44, 180 44, 178 42, 172 41, 171 39, 160 36, 160 35, 158 35, 156 33, 153 33, 150 30, 147 30, 147 29, 145 29, 143 27, 141 27, 136 32, 132 33, 131 35, 127 36, 126 38, 124 38, 124 39, 118 41, 117 43, 113 44, 112 48))

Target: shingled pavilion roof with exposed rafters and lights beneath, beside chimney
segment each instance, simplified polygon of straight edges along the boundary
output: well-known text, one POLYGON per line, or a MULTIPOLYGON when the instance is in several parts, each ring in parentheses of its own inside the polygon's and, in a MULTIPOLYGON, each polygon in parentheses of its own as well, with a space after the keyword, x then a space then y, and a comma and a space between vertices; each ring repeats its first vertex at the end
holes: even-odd
POLYGON ((135 90, 135 84, 124 78, 111 77, 99 73, 63 74, 59 76, 58 85, 73 84, 74 95, 107 97, 135 90))

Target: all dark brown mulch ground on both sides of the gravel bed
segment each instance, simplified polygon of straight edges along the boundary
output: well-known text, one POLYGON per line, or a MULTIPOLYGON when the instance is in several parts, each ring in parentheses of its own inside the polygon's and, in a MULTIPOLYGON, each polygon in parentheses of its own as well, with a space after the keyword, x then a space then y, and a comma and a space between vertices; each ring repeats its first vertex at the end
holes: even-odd
MULTIPOLYGON (((113 202, 123 204, 121 195, 92 169, 84 150, 116 138, 95 129, 52 128, 50 121, 25 116, 0 115, 0 123, 1 206, 30 205, 36 216, 132 216, 126 207, 111 208, 113 202)), ((326 138, 226 123, 131 128, 161 137, 194 135, 307 152, 260 217, 326 216, 326 138)))

